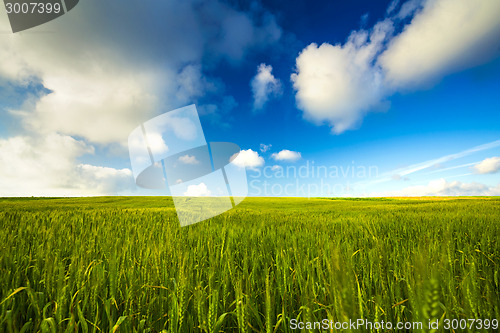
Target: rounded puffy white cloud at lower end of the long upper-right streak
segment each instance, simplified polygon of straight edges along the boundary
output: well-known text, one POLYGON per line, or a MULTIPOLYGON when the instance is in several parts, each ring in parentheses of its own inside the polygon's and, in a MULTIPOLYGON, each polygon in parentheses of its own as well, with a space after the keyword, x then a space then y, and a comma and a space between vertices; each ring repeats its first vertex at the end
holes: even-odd
POLYGON ((354 31, 344 45, 313 43, 300 53, 291 79, 306 119, 327 122, 339 134, 382 108, 383 76, 372 64, 392 29, 391 21, 382 21, 371 33, 354 31))

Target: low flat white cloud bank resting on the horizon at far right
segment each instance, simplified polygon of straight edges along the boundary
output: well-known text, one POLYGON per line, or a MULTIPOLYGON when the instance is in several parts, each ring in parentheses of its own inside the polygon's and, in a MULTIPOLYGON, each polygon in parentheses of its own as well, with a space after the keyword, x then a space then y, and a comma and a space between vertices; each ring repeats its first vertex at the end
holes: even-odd
MULTIPOLYGON (((486 186, 480 183, 446 181, 444 178, 430 181, 427 185, 406 187, 399 191, 385 192, 382 196, 474 196, 500 195, 500 184, 486 186)), ((378 196, 378 195, 377 195, 378 196)))

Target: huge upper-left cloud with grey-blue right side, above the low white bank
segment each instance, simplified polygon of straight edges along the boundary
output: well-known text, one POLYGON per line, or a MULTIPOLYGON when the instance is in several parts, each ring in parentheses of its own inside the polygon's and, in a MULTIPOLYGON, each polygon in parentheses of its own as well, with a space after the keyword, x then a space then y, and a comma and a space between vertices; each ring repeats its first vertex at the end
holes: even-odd
MULTIPOLYGON (((82 2, 32 33, 3 34, 0 85, 36 83, 46 92, 11 114, 37 133, 126 145, 137 124, 165 108, 223 95, 221 82, 204 73, 205 59, 238 64, 249 50, 281 37, 274 16, 264 10, 196 0, 154 6, 151 11, 134 1, 82 2), (46 30, 52 33, 35 33, 46 30)), ((0 28, 9 26, 2 11, 0 28)))

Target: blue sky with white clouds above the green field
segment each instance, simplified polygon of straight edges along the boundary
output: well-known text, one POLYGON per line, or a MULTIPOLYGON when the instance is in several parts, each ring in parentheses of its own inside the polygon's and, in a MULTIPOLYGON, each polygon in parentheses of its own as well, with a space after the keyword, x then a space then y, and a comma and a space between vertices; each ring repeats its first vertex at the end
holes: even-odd
POLYGON ((191 104, 250 196, 500 195, 499 12, 89 0, 12 33, 2 9, 0 196, 170 195, 135 184, 128 137, 191 104))

